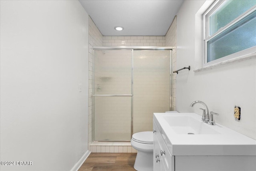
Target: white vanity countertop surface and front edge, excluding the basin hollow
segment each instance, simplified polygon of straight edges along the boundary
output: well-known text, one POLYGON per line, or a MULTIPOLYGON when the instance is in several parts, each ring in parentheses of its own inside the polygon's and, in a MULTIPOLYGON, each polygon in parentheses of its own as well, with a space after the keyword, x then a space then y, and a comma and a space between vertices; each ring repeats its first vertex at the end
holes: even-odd
POLYGON ((218 123, 204 123, 196 113, 154 113, 153 118, 172 155, 256 155, 256 140, 218 123), (164 119, 166 116, 193 117, 217 133, 177 134, 164 119))

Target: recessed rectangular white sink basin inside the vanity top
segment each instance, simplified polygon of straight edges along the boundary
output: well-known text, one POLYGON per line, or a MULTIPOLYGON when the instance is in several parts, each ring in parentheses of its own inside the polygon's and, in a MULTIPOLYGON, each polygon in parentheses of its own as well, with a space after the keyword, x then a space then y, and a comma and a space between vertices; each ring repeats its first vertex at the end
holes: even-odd
POLYGON ((176 134, 220 134, 211 127, 205 125, 202 120, 195 119, 193 116, 163 116, 165 121, 170 125, 176 134))

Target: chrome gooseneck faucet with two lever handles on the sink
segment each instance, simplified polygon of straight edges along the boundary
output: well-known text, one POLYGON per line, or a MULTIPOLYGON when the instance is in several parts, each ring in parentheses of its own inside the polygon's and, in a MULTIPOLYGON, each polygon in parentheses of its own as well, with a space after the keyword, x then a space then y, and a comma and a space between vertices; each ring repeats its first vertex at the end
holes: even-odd
POLYGON ((190 107, 194 107, 194 105, 196 103, 201 103, 206 108, 206 109, 200 108, 201 110, 203 110, 202 121, 204 121, 205 123, 208 123, 210 125, 216 125, 213 115, 219 115, 219 114, 218 113, 214 113, 212 111, 209 113, 209 109, 208 109, 207 105, 203 101, 193 101, 190 104, 190 107), (207 113, 206 113, 206 111, 207 111, 207 113), (210 119, 209 119, 209 117, 210 117, 210 119))

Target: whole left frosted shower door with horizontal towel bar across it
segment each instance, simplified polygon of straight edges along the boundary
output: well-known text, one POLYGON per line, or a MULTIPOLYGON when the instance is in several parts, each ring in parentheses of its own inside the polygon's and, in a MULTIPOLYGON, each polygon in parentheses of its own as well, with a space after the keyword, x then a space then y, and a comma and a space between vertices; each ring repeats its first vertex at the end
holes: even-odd
POLYGON ((130 140, 131 106, 132 50, 95 50, 94 140, 130 140))

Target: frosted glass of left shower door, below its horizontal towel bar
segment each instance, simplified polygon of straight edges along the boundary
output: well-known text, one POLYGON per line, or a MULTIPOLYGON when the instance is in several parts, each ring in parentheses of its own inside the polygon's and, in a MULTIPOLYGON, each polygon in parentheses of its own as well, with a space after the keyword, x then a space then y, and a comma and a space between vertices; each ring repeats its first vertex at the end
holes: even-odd
POLYGON ((94 97, 95 141, 130 141, 131 98, 94 97))

